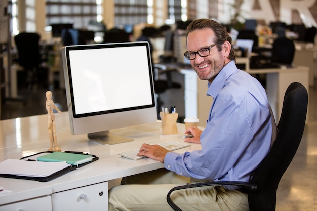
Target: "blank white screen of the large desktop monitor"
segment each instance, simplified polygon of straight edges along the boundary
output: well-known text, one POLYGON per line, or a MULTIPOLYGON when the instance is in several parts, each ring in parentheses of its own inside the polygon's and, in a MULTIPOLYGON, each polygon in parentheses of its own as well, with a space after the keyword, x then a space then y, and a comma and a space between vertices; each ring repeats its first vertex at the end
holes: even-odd
POLYGON ((69 51, 75 114, 152 104, 145 46, 69 51))

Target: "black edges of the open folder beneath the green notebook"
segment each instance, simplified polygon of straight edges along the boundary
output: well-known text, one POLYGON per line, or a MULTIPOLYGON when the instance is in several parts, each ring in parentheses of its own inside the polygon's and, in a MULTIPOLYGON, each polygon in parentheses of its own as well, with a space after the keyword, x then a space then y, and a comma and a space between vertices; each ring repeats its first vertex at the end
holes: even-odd
MULTIPOLYGON (((88 153, 84 153, 84 152, 75 152, 75 151, 65 151, 65 152, 68 152, 68 153, 75 153, 75 154, 86 154, 86 155, 91 155, 91 154, 88 154, 88 153)), ((29 155, 29 156, 26 156, 26 157, 22 157, 20 158, 20 160, 28 160, 28 162, 38 162, 36 161, 36 159, 29 159, 29 158, 33 158, 34 156, 39 156, 41 154, 44 154, 44 153, 52 153, 52 151, 46 151, 46 152, 38 152, 36 154, 33 154, 33 155, 29 155)), ((49 176, 46 176, 46 177, 32 177, 32 176, 20 176, 20 175, 10 175, 10 174, 0 174, 0 177, 5 177, 5 178, 15 178, 15 179, 24 179, 24 180, 36 180, 36 181, 39 181, 39 182, 47 182, 47 181, 50 181, 50 180, 53 180, 57 177, 60 177, 70 171, 73 171, 73 170, 76 170, 77 168, 80 168, 80 167, 83 167, 84 165, 87 165, 89 163, 92 163, 96 160, 99 159, 99 157, 97 157, 96 155, 91 155, 93 156, 93 159, 89 162, 85 162, 85 163, 82 163, 82 164, 79 164, 78 166, 77 165, 70 165, 70 166, 67 166, 65 168, 63 168, 62 170, 58 171, 58 172, 55 172, 49 176)))

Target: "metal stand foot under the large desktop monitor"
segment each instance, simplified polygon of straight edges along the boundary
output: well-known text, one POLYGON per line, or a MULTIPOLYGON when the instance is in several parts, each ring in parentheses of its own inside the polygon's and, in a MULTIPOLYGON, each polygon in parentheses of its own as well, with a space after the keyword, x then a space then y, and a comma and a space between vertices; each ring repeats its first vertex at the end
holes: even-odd
POLYGON ((132 138, 114 135, 110 133, 109 131, 89 133, 88 139, 89 141, 96 142, 103 145, 112 145, 112 144, 133 141, 132 138))

